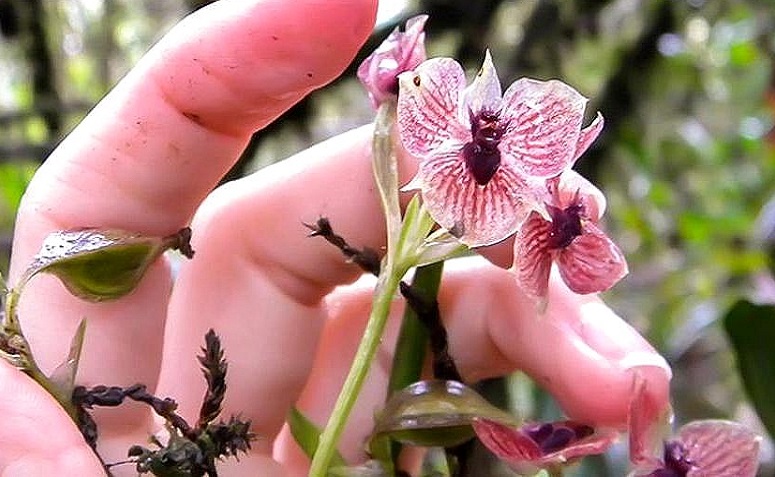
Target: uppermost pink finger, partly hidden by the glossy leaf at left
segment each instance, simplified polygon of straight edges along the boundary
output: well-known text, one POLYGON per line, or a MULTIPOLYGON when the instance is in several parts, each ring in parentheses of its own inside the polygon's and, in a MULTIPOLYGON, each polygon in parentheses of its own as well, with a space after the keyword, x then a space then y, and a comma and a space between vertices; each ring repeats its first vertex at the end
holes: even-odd
MULTIPOLYGON (((186 224, 253 130, 341 72, 371 30, 374 4, 224 0, 184 20, 40 169, 21 205, 12 276, 52 230, 168 234, 186 224)), ((51 279, 31 285, 22 320, 46 369, 87 316, 81 379, 153 384, 166 267, 102 305, 71 298, 51 279)))

